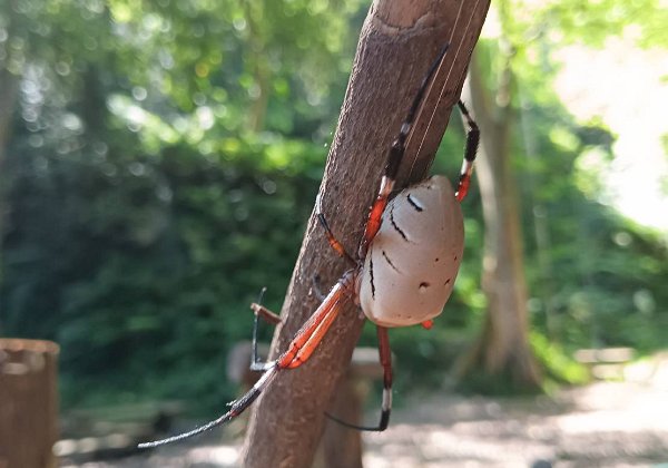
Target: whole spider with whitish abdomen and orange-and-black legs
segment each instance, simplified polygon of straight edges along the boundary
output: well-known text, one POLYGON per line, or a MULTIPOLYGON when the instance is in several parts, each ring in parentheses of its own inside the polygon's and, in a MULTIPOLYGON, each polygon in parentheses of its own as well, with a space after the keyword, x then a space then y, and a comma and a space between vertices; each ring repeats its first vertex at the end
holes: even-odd
POLYGON ((343 274, 322 300, 287 350, 273 361, 261 362, 257 359, 258 316, 274 324, 281 319, 266 308, 252 304, 255 322, 250 368, 264 372, 259 380, 248 392, 228 403, 229 410, 219 418, 188 432, 140 443, 139 448, 187 439, 239 416, 282 371, 296 369, 311 358, 338 315, 342 304, 348 300, 358 305, 376 325, 383 367, 381 418, 377 426, 363 427, 327 416, 358 430, 382 431, 387 428, 392 410, 392 353, 387 329, 415 324, 431 328, 432 319, 442 312, 450 298, 464 247, 463 217, 458 202, 464 199, 469 189, 480 130, 461 99, 458 107, 468 129, 456 191, 453 191, 445 177, 436 175, 403 188, 391 198, 415 114, 446 50, 448 46, 441 50, 423 78, 399 135, 387 152, 379 193, 371 206, 356 257, 347 253, 334 236, 323 214, 320 195, 316 199, 315 216, 327 242, 353 267, 343 274))

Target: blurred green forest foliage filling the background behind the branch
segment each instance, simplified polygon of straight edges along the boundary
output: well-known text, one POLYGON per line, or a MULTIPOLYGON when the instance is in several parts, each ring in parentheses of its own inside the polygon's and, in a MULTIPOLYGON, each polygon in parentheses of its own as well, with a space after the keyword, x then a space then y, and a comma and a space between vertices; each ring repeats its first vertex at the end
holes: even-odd
MULTIPOLYGON (((668 254, 666 231, 605 196, 590 162, 615 158, 616 135, 564 107, 559 53, 610 35, 665 51, 668 19, 651 0, 495 8, 477 70, 508 126, 503 184, 519 195, 527 355, 549 379, 577 381, 568 355, 578 348, 665 345, 668 254)), ((278 309, 366 9, 0 6, 0 332, 61 344, 66 407, 183 398, 206 411, 234 394, 226 353, 249 337, 248 303, 262 286, 278 309)), ((462 145, 463 128, 451 125, 434 172, 454 176, 462 145)), ((480 286, 480 205, 473 189, 446 313, 432 331, 393 331, 400 391, 442 383, 494 320, 480 286)))

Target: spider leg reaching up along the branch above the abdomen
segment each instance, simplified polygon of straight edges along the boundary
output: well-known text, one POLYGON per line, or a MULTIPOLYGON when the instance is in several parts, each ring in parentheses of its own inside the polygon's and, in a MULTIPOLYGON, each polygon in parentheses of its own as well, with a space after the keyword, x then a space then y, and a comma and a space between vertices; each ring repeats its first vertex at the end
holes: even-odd
POLYGON ((406 149, 406 139, 409 137, 409 134, 411 133, 411 128, 413 127, 415 114, 418 113, 418 108, 422 103, 422 98, 424 97, 424 92, 426 91, 428 85, 431 82, 434 72, 439 69, 439 66, 443 61, 443 57, 445 56, 448 46, 449 45, 445 45, 445 47, 443 47, 443 49, 439 53, 439 57, 436 57, 429 71, 426 72, 425 77, 422 79, 422 84, 418 89, 418 94, 413 99, 413 104, 409 109, 409 114, 406 115, 405 120, 401 125, 399 135, 396 136, 396 138, 392 143, 392 146, 390 147, 390 152, 387 153, 387 162, 385 163, 385 170, 383 173, 383 178, 381 179, 381 187, 379 188, 376 199, 371 206, 371 211, 369 212, 369 218, 366 221, 366 227, 364 228, 364 235, 362 237, 362 241, 360 242, 360 259, 364 259, 364 256, 366 255, 366 251, 369 250, 369 244, 371 244, 371 241, 373 241, 379 230, 381 228, 381 220, 383 216, 383 212, 385 211, 385 206, 387 205, 390 194, 394 188, 394 182, 396 179, 396 174, 399 173, 399 166, 406 149))

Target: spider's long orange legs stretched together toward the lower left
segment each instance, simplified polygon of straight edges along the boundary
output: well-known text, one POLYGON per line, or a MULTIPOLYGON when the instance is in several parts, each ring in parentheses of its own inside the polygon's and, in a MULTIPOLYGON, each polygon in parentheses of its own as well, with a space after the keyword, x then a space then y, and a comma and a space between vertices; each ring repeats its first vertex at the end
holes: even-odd
POLYGON ((293 341, 289 343, 287 351, 281 354, 275 361, 269 361, 266 364, 265 373, 262 374, 259 380, 250 390, 248 390, 248 392, 229 403, 230 408, 226 413, 188 432, 153 442, 139 443, 138 448, 154 448, 189 439, 190 437, 206 432, 238 417, 257 399, 257 397, 259 397, 263 390, 272 383, 279 371, 295 369, 308 360, 334 322, 334 319, 336 319, 341 312, 341 304, 351 294, 352 280, 353 274, 352 272, 348 272, 338 281, 338 283, 336 283, 336 285, 334 285, 334 287, 332 287, 332 291, 330 291, 325 301, 321 303, 313 315, 311 315, 311 318, 302 325, 293 341))

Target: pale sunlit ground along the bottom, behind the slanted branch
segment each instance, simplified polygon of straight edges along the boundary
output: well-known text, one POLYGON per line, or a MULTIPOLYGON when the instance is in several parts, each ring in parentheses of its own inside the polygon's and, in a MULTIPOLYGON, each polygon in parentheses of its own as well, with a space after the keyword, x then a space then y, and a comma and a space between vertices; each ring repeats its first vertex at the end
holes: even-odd
MULTIPOLYGON (((364 436, 364 467, 668 468, 668 355, 625 376, 553 396, 415 398, 393 413, 385 432, 364 436)), ((237 467, 238 445, 215 443, 219 438, 78 466, 237 467)))

